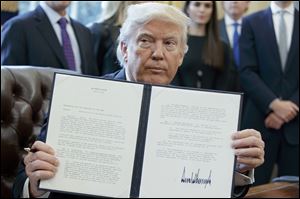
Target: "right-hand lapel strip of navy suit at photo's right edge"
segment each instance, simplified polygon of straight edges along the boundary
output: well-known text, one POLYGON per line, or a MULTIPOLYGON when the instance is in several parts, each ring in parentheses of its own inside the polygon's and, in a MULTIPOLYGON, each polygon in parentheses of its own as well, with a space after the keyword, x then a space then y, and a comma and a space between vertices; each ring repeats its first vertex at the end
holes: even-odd
POLYGON ((293 58, 295 56, 299 56, 299 50, 297 51, 297 49, 299 49, 299 12, 295 10, 292 43, 289 49, 285 71, 287 71, 291 66, 293 66, 293 63, 291 63, 293 61, 293 58))

